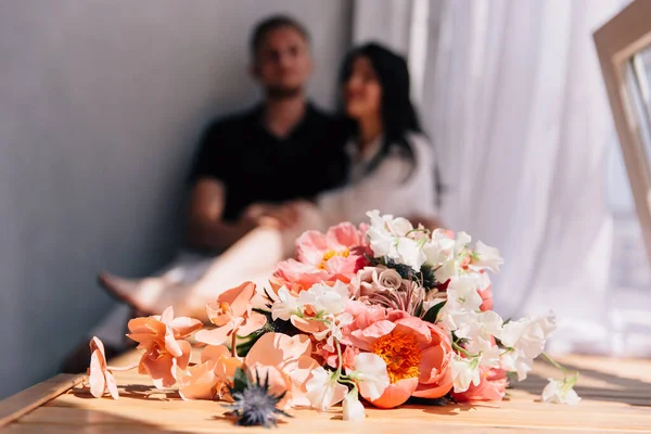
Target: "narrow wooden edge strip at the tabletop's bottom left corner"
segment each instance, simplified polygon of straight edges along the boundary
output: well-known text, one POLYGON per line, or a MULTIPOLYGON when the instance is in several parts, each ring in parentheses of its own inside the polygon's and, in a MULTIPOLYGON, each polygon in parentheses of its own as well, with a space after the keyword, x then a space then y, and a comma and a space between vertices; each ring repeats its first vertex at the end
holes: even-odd
POLYGON ((3 399, 0 401, 0 427, 81 383, 84 376, 62 373, 3 399))

